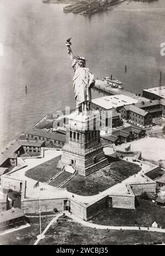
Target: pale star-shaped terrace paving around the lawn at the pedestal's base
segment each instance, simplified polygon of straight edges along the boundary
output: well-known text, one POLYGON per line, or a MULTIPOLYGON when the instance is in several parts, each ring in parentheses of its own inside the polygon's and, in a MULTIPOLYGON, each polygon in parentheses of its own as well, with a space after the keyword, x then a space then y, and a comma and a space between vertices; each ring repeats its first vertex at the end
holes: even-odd
MULTIPOLYGON (((106 148, 105 151, 106 153, 109 153, 108 151, 112 150, 112 148, 106 148)), ((41 164, 41 162, 46 162, 48 159, 51 159, 53 157, 58 156, 61 154, 61 151, 53 151, 53 150, 47 150, 45 151, 45 157, 42 159, 26 159, 25 161, 27 162, 27 167, 24 169, 18 170, 18 172, 15 172, 11 175, 11 178, 16 178, 20 180, 26 179, 26 196, 29 198, 38 198, 38 190, 34 189, 34 184, 36 183, 36 180, 27 178, 25 176, 25 172, 28 169, 31 169, 34 166, 37 166, 38 164, 41 164)), ((131 162, 131 159, 128 159, 128 161, 131 162)), ((139 164, 139 162, 136 162, 136 164, 139 164)), ((74 194, 74 200, 78 201, 80 203, 91 203, 96 200, 99 200, 103 196, 107 196, 110 194, 128 194, 127 191, 127 186, 126 184, 131 184, 134 182, 146 182, 146 179, 141 176, 142 171, 146 173, 150 169, 149 164, 142 163, 142 170, 140 170, 139 173, 137 173, 135 176, 132 175, 128 177, 127 179, 123 180, 121 183, 115 184, 111 186, 110 188, 102 191, 99 194, 96 195, 91 195, 91 196, 82 196, 82 195, 76 195, 74 194)), ((54 195, 56 195, 56 198, 72 198, 73 193, 70 193, 67 190, 59 190, 58 188, 45 184, 45 183, 40 183, 40 188, 44 187, 45 190, 41 192, 41 198, 43 199, 51 199, 54 198, 54 195)), ((42 206, 41 206, 42 207, 42 206)))

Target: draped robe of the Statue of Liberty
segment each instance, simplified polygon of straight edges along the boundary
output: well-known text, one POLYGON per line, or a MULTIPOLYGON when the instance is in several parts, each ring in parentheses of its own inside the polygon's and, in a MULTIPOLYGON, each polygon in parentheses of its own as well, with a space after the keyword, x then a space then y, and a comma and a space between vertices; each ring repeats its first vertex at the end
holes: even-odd
POLYGON ((72 67, 75 72, 73 77, 73 88, 76 100, 76 109, 83 104, 86 104, 87 109, 89 109, 89 102, 91 100, 90 85, 94 82, 94 75, 91 73, 89 68, 80 67, 78 60, 76 59, 73 60, 72 67))

